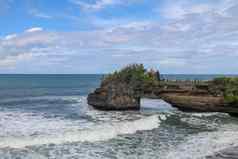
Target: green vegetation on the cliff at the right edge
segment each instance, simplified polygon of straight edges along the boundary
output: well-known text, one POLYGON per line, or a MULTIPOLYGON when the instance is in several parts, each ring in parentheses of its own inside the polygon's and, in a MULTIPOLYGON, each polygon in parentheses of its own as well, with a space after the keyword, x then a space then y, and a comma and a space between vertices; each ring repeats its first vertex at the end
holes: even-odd
POLYGON ((215 78, 213 83, 223 92, 227 103, 238 105, 238 77, 215 78))

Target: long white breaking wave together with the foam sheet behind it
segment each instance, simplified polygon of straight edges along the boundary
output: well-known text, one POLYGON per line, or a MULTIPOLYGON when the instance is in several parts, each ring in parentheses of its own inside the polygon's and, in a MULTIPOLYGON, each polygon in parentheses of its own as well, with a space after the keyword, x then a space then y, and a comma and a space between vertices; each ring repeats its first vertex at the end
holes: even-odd
MULTIPOLYGON (((14 117, 14 119, 16 118, 14 117)), ((11 119, 9 120, 9 118, 5 120, 10 124, 10 126, 8 125, 6 128, 9 130, 8 132, 13 131, 14 133, 3 136, 8 133, 5 132, 0 136, 0 148, 24 148, 45 144, 104 141, 119 135, 134 134, 137 131, 143 130, 152 130, 157 128, 160 123, 158 115, 142 117, 141 119, 133 121, 121 121, 100 125, 91 123, 91 126, 90 124, 86 126, 81 124, 80 126, 78 123, 60 119, 51 120, 34 116, 29 118, 29 116, 26 115, 21 116, 20 120, 21 119, 22 121, 16 121, 16 123, 14 123, 13 120, 11 121, 11 119), (28 120, 27 123, 30 122, 31 124, 21 125, 24 124, 24 121, 26 120, 28 120), (21 127, 18 128, 24 128, 24 130, 17 130, 14 125, 21 125, 21 127), (82 126, 85 128, 82 128, 82 126), (21 132, 20 135, 17 135, 19 132, 21 132)), ((162 119, 164 119, 164 117, 162 117, 162 119)))

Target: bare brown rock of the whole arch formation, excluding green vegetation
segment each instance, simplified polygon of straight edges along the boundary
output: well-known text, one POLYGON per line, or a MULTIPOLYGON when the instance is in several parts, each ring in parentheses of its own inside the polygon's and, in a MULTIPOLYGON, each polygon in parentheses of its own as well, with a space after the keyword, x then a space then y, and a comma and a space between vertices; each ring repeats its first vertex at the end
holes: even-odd
POLYGON ((135 89, 125 82, 113 81, 102 84, 88 96, 88 104, 100 110, 138 110, 140 98, 160 98, 182 111, 224 112, 238 116, 238 107, 225 102, 224 97, 212 94, 208 87, 178 82, 172 86, 135 89), (199 88, 197 88, 199 87, 199 88))

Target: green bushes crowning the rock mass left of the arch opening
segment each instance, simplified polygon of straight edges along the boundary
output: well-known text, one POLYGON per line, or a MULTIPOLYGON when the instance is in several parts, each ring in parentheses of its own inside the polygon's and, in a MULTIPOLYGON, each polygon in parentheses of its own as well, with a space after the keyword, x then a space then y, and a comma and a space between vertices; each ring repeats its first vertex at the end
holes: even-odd
POLYGON ((159 82, 159 73, 147 71, 142 64, 132 64, 104 77, 103 83, 111 81, 126 82, 132 86, 154 85, 159 82))

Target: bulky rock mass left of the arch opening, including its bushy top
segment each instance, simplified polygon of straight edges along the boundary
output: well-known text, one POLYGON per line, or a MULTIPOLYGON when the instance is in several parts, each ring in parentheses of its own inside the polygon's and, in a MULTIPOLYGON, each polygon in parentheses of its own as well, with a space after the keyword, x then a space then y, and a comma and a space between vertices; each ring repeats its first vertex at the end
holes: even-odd
POLYGON ((100 110, 138 110, 145 88, 153 88, 158 76, 143 65, 129 65, 104 77, 100 88, 88 95, 88 104, 100 110))

